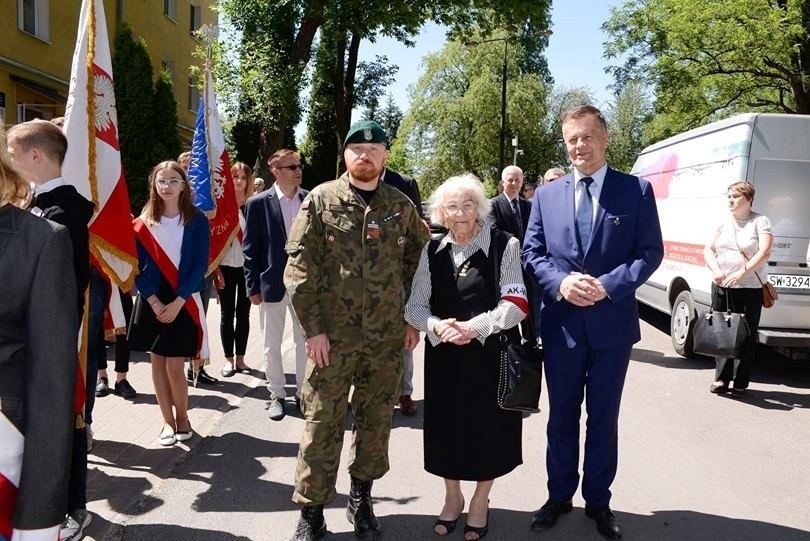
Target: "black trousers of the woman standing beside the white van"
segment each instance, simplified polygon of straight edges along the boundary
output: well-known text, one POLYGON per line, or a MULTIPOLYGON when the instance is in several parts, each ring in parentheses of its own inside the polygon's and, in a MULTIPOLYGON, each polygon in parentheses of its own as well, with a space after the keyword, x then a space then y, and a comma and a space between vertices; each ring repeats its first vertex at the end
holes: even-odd
POLYGON ((762 315, 761 287, 720 287, 712 284, 713 308, 744 314, 751 336, 745 344, 739 359, 717 357, 715 359, 714 380, 726 383, 734 382, 735 389, 745 389, 751 381, 751 365, 756 359, 757 329, 762 315))

